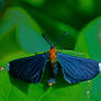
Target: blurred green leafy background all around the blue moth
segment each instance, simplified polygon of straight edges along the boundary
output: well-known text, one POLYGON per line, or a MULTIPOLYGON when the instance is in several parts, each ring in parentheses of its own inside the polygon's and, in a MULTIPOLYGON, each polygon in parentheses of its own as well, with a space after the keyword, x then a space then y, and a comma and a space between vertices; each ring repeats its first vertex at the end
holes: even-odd
MULTIPOLYGON (((63 53, 101 61, 101 0, 0 0, 0 66, 47 52, 44 33, 63 53), (85 54, 80 54, 85 53, 85 54)), ((69 86, 27 83, 0 71, 0 101, 101 101, 101 75, 69 86)))

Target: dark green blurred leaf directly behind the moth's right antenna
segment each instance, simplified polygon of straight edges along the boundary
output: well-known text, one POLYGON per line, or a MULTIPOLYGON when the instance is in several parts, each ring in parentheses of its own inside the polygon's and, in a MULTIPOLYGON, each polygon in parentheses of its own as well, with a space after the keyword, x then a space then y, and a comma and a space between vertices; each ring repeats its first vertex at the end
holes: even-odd
POLYGON ((56 43, 57 40, 66 32, 70 31, 70 34, 68 34, 58 45, 58 48, 69 48, 74 49, 77 37, 78 37, 78 31, 76 31, 74 27, 55 21, 47 15, 43 14, 42 12, 38 12, 37 10, 30 11, 35 18, 35 20, 38 22, 38 24, 43 27, 46 36, 53 42, 56 43))

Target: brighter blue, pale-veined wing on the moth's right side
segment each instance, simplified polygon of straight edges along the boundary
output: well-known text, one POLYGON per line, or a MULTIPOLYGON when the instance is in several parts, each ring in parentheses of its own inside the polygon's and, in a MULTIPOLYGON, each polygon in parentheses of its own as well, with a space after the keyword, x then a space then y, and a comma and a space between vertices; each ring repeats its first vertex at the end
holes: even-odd
POLYGON ((66 81, 76 83, 83 80, 90 80, 99 72, 99 63, 92 59, 70 56, 63 53, 57 53, 66 81))

